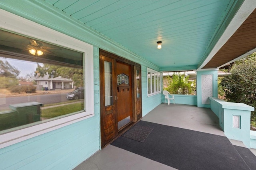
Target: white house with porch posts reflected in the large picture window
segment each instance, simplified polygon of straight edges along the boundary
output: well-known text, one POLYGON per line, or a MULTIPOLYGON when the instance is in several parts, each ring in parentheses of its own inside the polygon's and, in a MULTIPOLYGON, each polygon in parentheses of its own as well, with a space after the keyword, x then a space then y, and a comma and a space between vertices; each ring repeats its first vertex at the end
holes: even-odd
POLYGON ((36 75, 35 81, 37 85, 42 85, 44 88, 51 89, 72 89, 74 88, 73 80, 62 78, 61 76, 49 78, 49 74, 45 74, 43 77, 36 75))

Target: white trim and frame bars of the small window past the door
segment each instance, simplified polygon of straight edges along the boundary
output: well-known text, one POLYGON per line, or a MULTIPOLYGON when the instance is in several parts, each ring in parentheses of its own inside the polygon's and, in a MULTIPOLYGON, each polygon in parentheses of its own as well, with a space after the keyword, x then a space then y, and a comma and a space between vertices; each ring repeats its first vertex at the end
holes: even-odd
POLYGON ((159 94, 159 93, 161 93, 161 78, 160 78, 160 80, 159 81, 157 81, 158 82, 158 84, 156 84, 156 78, 158 78, 158 77, 156 77, 156 74, 157 75, 161 75, 161 73, 160 72, 158 72, 158 71, 156 71, 156 70, 152 70, 151 68, 147 68, 147 94, 148 94, 148 96, 153 96, 153 95, 155 95, 155 94, 159 94), (150 94, 148 94, 148 72, 150 72, 150 94), (153 86, 152 86, 152 73, 154 73, 154 76, 155 76, 155 78, 154 78, 154 88, 155 88, 155 92, 153 93, 152 91, 153 91, 153 86), (156 87, 157 86, 157 87, 156 87), (159 88, 158 87, 160 87, 160 90, 158 90, 159 88))

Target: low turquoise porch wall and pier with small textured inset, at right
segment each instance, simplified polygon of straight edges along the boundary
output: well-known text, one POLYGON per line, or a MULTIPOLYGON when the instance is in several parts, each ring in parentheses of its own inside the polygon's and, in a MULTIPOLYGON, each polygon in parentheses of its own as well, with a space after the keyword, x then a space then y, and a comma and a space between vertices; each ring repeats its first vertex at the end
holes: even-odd
POLYGON ((254 107, 243 103, 225 102, 218 98, 209 97, 209 99, 210 108, 219 117, 219 125, 226 137, 242 141, 246 147, 250 148, 250 117, 254 107), (234 116, 240 117, 239 127, 236 127, 234 116))

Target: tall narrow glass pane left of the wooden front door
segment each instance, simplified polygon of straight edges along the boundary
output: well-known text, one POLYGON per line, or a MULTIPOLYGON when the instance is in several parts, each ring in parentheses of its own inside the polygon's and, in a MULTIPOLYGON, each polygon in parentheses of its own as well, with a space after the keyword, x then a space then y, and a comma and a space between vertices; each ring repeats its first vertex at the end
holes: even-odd
POLYGON ((112 100, 112 63, 104 61, 105 74, 105 106, 113 104, 112 100))

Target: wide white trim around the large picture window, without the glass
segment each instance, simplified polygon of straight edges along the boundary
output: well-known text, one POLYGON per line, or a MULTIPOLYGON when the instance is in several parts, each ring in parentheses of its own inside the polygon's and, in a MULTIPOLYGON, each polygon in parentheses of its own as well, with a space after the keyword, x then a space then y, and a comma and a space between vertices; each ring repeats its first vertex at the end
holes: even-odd
POLYGON ((0 27, 84 53, 86 111, 0 135, 0 149, 94 116, 93 46, 0 9, 0 27))

